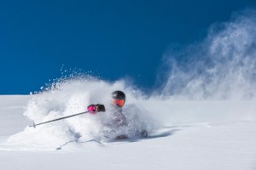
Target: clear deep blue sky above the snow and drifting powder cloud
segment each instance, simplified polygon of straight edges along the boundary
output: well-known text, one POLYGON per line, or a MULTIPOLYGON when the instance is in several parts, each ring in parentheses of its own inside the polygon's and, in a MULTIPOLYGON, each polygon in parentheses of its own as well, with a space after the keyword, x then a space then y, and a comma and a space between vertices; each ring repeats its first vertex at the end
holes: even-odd
POLYGON ((153 88, 172 43, 199 41, 254 0, 1 1, 0 94, 29 94, 66 69, 153 88))

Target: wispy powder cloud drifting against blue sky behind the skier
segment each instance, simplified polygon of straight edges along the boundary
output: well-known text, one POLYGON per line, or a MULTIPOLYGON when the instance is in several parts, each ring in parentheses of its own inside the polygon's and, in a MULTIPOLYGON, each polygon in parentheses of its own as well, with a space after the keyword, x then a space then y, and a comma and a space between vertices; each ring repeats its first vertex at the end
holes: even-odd
POLYGON ((230 22, 212 25, 205 40, 179 50, 171 48, 164 61, 167 81, 160 89, 164 96, 255 99, 255 10, 237 12, 230 22))

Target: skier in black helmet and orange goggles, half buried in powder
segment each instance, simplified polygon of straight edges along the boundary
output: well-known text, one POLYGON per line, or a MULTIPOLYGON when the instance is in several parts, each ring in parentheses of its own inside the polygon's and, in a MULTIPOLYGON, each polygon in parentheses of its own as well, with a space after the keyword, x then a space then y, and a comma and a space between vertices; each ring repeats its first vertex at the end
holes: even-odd
MULTIPOLYGON (((127 126, 126 117, 122 113, 122 107, 125 105, 125 93, 122 91, 114 91, 112 93, 112 105, 110 106, 109 112, 111 113, 111 122, 108 126, 112 127, 125 127, 127 126)), ((89 105, 87 110, 90 111, 90 114, 96 114, 97 112, 106 111, 105 106, 101 104, 89 105)), ((148 136, 146 130, 141 131, 143 137, 148 136)), ((119 135, 116 139, 127 139, 128 137, 124 134, 119 135)))

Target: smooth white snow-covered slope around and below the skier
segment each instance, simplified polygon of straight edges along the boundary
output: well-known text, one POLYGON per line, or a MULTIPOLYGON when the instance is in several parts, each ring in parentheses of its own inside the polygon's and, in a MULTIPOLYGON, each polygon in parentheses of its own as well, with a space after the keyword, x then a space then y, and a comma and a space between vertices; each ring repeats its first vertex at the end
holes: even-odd
MULTIPOLYGON (((149 105, 158 105, 161 108, 155 109, 157 111, 152 113, 156 112, 156 117, 159 118, 157 121, 161 119, 163 123, 161 127, 154 129, 154 132, 151 131, 148 139, 102 143, 83 139, 66 144, 68 138, 58 138, 60 135, 69 134, 64 133, 65 129, 62 130, 64 134, 60 134, 58 127, 61 126, 59 123, 68 120, 52 122, 35 129, 26 127, 32 122, 26 120, 22 112, 28 107, 27 101, 32 98, 0 96, 1 169, 256 168, 256 121, 251 115, 255 113, 256 107, 252 102, 171 103, 157 102, 154 99, 144 100, 139 105, 146 108, 149 105), (207 116, 202 118, 201 114, 204 111, 207 112, 207 116), (224 116, 224 113, 229 111, 236 111, 237 116, 224 116), (191 115, 193 112, 195 114, 191 115), (188 119, 189 117, 191 119, 188 119), (201 118, 198 121, 195 120, 196 117, 201 118), (44 132, 43 128, 49 128, 48 132, 52 134, 44 132), (20 137, 19 134, 23 136, 20 137), (17 135, 18 141, 8 142, 9 139, 18 138, 17 135), (56 135, 57 138, 52 135, 56 135), (56 150, 59 147, 61 150, 56 150)), ((77 118, 80 122, 86 122, 90 117, 77 118)), ((69 121, 72 119, 76 118, 70 118, 69 121)))

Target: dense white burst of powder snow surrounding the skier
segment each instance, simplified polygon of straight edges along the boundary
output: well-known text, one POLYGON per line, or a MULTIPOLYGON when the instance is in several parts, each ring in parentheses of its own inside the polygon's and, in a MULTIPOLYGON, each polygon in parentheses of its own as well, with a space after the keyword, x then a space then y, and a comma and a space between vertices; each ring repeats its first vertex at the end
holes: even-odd
POLYGON ((145 114, 143 107, 139 108, 135 105, 143 100, 143 94, 138 97, 137 94, 141 92, 131 86, 127 87, 125 81, 110 83, 95 77, 75 76, 60 79, 45 89, 33 95, 26 105, 24 116, 32 122, 47 122, 62 116, 84 112, 90 104, 104 104, 107 111, 95 115, 75 116, 36 128, 26 127, 23 132, 11 136, 8 140, 9 144, 24 144, 23 149, 27 147, 45 150, 68 142, 108 140, 103 132, 109 129, 103 127, 102 122, 108 120, 110 116, 108 108, 111 104, 111 93, 117 89, 126 94, 123 114, 126 116, 129 127, 110 129, 115 131, 113 135, 126 134, 132 139, 136 137, 137 131, 147 129, 150 132, 158 126, 145 114))

